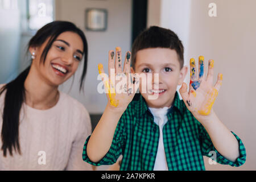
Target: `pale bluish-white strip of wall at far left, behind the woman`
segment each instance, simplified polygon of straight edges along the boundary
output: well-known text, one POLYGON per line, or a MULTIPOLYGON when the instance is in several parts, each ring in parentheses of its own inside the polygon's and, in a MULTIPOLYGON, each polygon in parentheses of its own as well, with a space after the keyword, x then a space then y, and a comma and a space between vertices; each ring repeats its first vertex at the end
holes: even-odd
POLYGON ((0 84, 18 74, 20 19, 17 1, 0 1, 0 84))

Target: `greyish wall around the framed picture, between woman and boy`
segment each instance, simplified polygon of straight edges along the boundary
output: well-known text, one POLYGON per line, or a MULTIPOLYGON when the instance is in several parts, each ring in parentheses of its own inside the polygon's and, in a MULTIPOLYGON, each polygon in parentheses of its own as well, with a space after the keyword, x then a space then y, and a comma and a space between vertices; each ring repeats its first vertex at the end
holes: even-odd
MULTIPOLYGON (((119 46, 122 48, 123 55, 131 50, 131 6, 131 0, 56 0, 56 20, 68 20, 75 23, 85 32, 88 40, 85 94, 79 94, 79 80, 83 66, 80 65, 69 95, 84 104, 90 113, 103 113, 107 103, 106 95, 97 92, 97 85, 100 82, 97 80, 98 63, 102 63, 105 72, 108 72, 109 50, 119 46), (105 32, 85 30, 85 10, 92 7, 108 10, 108 29, 105 32)), ((72 78, 60 89, 68 92, 71 82, 72 78)))

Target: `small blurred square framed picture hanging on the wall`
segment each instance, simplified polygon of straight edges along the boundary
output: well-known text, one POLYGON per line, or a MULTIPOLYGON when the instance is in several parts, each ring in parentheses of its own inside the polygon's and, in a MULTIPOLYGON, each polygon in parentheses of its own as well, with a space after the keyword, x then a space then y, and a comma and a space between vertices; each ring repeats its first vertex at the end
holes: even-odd
POLYGON ((85 10, 85 28, 88 31, 105 31, 108 22, 106 9, 90 8, 85 10))

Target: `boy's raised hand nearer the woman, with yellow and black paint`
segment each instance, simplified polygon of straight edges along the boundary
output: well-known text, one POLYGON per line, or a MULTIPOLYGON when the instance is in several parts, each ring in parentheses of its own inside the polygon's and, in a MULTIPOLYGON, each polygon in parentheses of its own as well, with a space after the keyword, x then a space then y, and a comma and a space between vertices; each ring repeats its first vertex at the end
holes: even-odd
POLYGON ((124 111, 133 100, 139 87, 139 77, 137 74, 130 74, 131 52, 128 51, 125 56, 125 63, 122 71, 122 53, 121 48, 115 48, 109 51, 109 76, 105 74, 102 64, 98 64, 98 71, 104 81, 106 96, 108 98, 108 107, 114 110, 124 111))

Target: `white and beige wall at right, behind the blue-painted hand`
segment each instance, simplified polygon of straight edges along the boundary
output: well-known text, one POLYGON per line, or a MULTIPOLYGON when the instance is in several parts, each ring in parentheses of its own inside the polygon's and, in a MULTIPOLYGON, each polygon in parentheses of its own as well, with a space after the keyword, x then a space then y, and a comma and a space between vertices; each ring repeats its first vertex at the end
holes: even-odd
POLYGON ((160 4, 159 24, 174 30, 183 41, 185 63, 188 65, 191 57, 203 55, 206 61, 214 60, 214 81, 218 72, 223 73, 213 108, 246 147, 243 166, 209 165, 209 158, 204 158, 206 169, 255 170, 256 1, 162 0, 160 4), (209 3, 216 3, 217 17, 209 17, 209 3))

